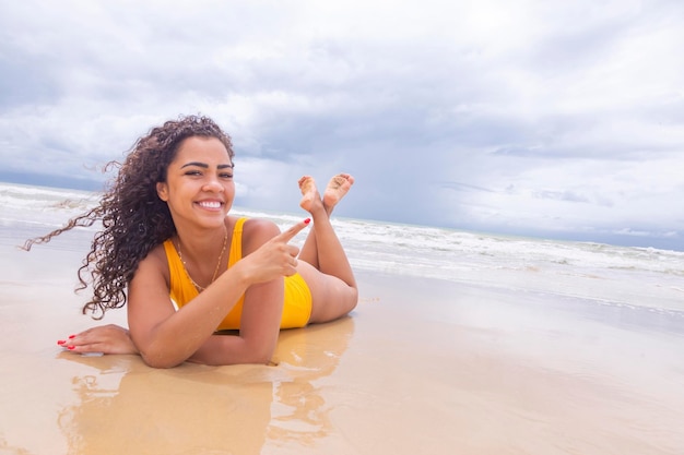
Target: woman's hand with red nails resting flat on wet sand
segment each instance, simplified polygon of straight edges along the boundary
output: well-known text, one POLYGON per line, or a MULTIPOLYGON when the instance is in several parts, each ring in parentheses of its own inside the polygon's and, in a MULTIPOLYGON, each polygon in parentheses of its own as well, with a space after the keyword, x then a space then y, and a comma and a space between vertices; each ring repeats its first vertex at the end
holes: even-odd
POLYGON ((139 354, 128 330, 115 324, 89 328, 57 344, 72 352, 139 354))

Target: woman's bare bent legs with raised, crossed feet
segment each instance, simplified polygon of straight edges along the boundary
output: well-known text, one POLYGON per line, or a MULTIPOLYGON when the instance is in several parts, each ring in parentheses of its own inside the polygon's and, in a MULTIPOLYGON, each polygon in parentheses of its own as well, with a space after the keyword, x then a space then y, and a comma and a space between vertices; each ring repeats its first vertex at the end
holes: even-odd
POLYGON ((311 322, 325 322, 340 318, 356 306, 358 291, 346 253, 330 224, 330 214, 346 194, 354 178, 346 173, 333 177, 321 200, 311 177, 299 179, 300 206, 314 220, 299 260, 312 267, 299 267, 314 298, 311 322), (318 271, 318 273, 316 272, 318 271))

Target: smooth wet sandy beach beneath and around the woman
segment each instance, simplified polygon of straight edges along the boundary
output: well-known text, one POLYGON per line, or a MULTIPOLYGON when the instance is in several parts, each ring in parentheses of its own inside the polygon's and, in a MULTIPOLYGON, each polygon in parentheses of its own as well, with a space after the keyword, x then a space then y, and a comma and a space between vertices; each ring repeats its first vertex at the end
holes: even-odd
MULTIPOLYGON (((3 238, 0 454, 682 454, 684 321, 381 273, 276 366, 82 357, 82 251, 3 238)), ((125 310, 102 323, 126 323, 125 310)))

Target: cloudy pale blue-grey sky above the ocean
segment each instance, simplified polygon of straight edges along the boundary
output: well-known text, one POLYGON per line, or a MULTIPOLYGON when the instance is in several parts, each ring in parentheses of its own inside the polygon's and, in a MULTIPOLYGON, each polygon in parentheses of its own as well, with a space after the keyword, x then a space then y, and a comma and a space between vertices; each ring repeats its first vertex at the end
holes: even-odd
POLYGON ((236 205, 684 251, 680 0, 0 4, 0 180, 101 188, 213 118, 236 205), (99 187, 98 187, 99 185, 99 187))

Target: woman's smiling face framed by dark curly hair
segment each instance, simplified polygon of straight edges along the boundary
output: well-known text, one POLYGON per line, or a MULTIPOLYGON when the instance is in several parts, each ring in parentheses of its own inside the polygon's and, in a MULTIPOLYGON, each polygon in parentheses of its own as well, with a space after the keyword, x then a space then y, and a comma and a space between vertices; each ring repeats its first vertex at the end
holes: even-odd
POLYGON ((233 206, 235 182, 228 151, 215 137, 184 140, 168 165, 166 182, 156 184, 160 199, 178 228, 180 223, 214 227, 233 206))

